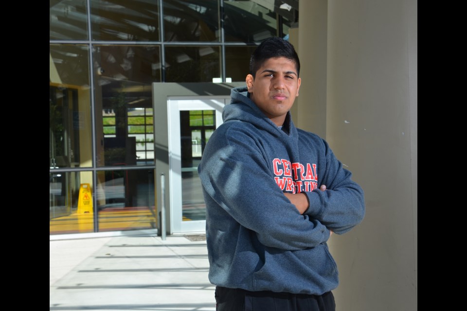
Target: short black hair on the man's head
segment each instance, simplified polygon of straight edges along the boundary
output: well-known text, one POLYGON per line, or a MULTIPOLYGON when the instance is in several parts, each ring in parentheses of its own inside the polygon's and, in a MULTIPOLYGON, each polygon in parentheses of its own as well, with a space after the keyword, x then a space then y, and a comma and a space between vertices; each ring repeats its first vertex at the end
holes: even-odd
POLYGON ((253 51, 250 58, 250 73, 255 77, 256 71, 269 58, 285 57, 295 63, 297 76, 300 75, 300 59, 293 45, 280 37, 269 37, 253 51))

